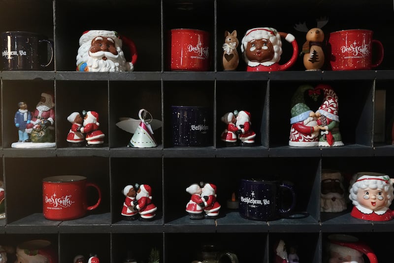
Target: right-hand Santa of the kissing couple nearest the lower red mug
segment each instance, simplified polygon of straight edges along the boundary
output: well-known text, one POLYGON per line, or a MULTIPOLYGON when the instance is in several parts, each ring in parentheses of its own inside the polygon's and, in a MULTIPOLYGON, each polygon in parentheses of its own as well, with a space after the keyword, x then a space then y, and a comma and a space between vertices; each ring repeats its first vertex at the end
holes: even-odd
POLYGON ((138 210, 140 221, 152 221, 156 216, 157 207, 152 203, 152 188, 148 185, 139 186, 133 205, 138 210))

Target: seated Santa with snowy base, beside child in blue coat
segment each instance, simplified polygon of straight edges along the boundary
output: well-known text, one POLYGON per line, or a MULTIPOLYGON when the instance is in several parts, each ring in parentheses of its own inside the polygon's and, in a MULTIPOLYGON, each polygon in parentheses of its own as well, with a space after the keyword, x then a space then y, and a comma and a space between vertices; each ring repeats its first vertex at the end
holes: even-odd
POLYGON ((31 142, 13 143, 12 148, 48 148, 55 147, 55 102, 51 94, 42 92, 32 120, 26 124, 26 132, 31 142))

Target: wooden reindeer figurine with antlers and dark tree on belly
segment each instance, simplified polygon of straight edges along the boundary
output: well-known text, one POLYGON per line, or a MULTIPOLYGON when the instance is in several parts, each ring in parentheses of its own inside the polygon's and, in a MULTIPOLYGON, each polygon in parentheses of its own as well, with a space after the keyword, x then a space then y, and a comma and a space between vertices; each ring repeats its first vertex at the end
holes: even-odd
POLYGON ((322 27, 328 23, 328 19, 317 19, 317 27, 308 29, 306 23, 294 26, 297 31, 306 32, 306 42, 302 45, 301 55, 306 71, 321 71, 325 62, 325 38, 322 27))

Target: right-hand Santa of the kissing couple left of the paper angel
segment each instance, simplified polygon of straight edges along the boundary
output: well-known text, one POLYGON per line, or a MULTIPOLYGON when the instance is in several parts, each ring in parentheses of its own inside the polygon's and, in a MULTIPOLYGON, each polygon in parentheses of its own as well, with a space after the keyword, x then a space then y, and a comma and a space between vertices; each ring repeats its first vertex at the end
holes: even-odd
POLYGON ((99 113, 84 111, 83 127, 77 127, 76 131, 85 134, 87 147, 102 147, 105 134, 99 130, 99 113))

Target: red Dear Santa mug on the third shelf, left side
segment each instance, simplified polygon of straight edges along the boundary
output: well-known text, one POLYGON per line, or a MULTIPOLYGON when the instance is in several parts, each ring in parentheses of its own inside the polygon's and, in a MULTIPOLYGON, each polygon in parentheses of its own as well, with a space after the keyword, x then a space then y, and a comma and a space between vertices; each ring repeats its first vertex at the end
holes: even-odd
POLYGON ((79 175, 60 175, 42 180, 42 208, 46 219, 66 221, 85 216, 87 211, 96 209, 101 202, 101 190, 79 175), (87 188, 96 188, 98 200, 88 206, 87 188))

